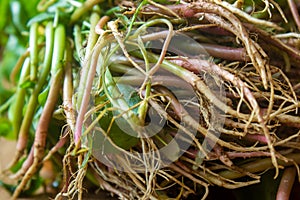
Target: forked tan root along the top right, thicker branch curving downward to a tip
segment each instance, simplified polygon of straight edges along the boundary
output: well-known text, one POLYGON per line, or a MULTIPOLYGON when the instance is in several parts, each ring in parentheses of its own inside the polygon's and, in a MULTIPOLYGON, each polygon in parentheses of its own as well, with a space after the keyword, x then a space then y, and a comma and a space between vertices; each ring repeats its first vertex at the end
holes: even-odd
MULTIPOLYGON (((147 8, 149 9, 149 7, 147 8)), ((245 18, 246 20, 251 21, 253 23, 255 22, 256 24, 262 22, 260 23, 261 25, 270 26, 274 28, 281 28, 281 27, 271 22, 253 18, 250 15, 242 12, 240 9, 237 9, 231 6, 231 4, 224 1, 214 1, 214 3, 195 2, 191 4, 179 4, 174 6, 172 5, 172 6, 168 6, 168 8, 175 11, 176 13, 179 13, 182 17, 197 18, 197 17, 204 16, 205 19, 208 20, 209 22, 216 24, 221 28, 225 28, 227 31, 230 31, 234 35, 236 35, 243 42, 246 52, 250 60, 252 61, 253 66, 260 74, 264 88, 265 89, 268 88, 268 82, 266 77, 267 63, 265 61, 267 55, 259 47, 257 43, 255 43, 252 39, 249 38, 249 34, 246 28, 243 26, 241 21, 234 14, 242 18, 245 18)), ((156 12, 161 12, 170 15, 169 12, 166 13, 164 10, 158 8, 154 8, 154 10, 156 12)))

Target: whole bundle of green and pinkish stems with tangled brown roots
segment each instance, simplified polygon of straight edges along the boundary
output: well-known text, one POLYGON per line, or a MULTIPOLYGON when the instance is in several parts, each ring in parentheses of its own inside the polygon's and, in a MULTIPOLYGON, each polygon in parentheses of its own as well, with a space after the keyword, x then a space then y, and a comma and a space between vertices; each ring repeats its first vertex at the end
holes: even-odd
POLYGON ((42 3, 11 105, 14 198, 52 157, 57 199, 81 199, 85 177, 124 199, 204 199, 299 173, 297 20, 276 2, 42 3))

